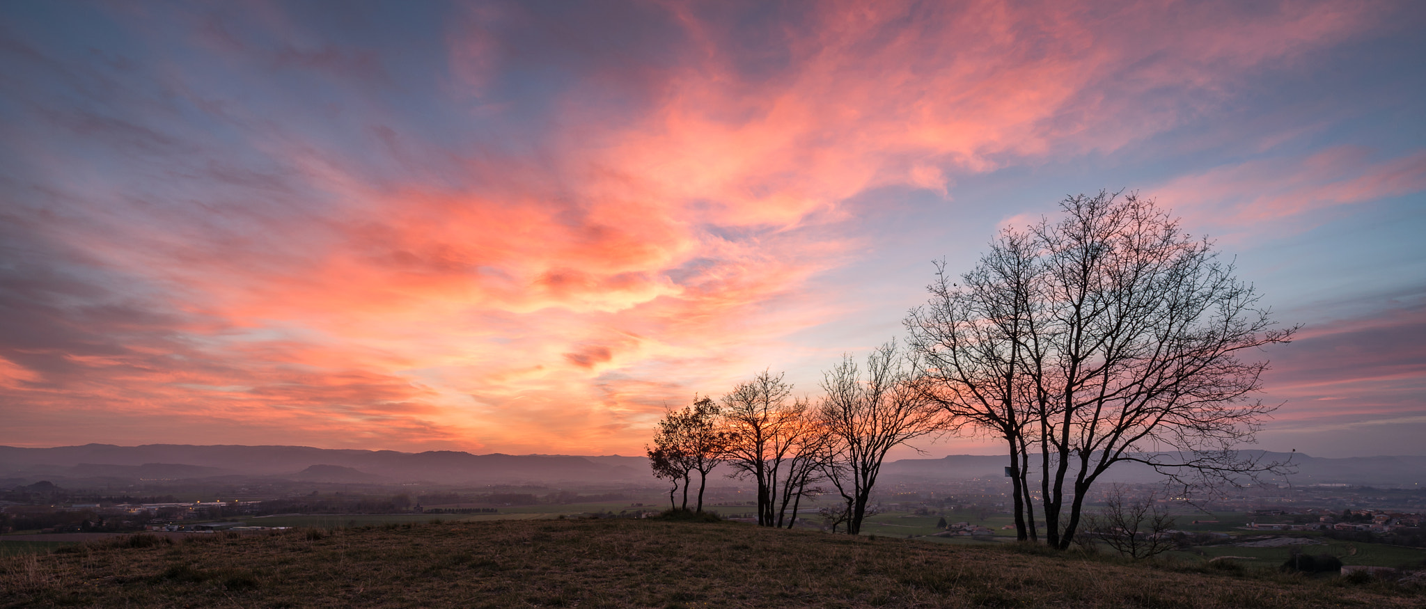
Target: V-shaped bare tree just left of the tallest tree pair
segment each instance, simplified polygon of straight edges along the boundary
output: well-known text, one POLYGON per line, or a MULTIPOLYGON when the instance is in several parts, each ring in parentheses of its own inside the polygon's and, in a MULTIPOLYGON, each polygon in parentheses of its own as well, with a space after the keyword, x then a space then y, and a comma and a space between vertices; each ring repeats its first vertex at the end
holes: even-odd
POLYGON ((887 452, 941 431, 940 408, 913 385, 913 368, 891 341, 867 357, 866 374, 850 355, 823 374, 820 418, 836 439, 824 469, 847 503, 851 535, 861 531, 887 452))

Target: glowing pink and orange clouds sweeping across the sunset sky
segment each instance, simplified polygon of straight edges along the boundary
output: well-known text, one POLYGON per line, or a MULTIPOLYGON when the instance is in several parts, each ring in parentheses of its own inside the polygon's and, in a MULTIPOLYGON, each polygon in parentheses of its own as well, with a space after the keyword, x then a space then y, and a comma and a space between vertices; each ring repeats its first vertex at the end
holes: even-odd
MULTIPOLYGON (((135 442, 221 421, 224 441, 636 452, 665 401, 816 355, 789 337, 841 312, 837 294, 807 290, 856 257, 833 228, 864 213, 847 203, 857 194, 947 195, 957 175, 1118 150, 1258 70, 1362 33, 1372 13, 813 6, 770 29, 781 58, 766 61, 739 54, 739 23, 683 4, 660 14, 690 43, 663 61, 626 51, 600 63, 580 54, 585 31, 545 31, 518 6, 472 10, 442 37, 451 70, 435 103, 472 106, 449 138, 339 88, 388 81, 376 56, 314 41, 272 7, 254 17, 262 36, 208 23, 197 47, 224 80, 251 84, 244 96, 287 101, 277 73, 345 94, 325 110, 210 104, 208 74, 165 57, 165 77, 191 87, 171 97, 238 141, 175 118, 183 108, 154 101, 168 91, 117 86, 131 120, 48 114, 43 128, 116 158, 158 158, 133 161, 144 171, 128 183, 41 154, 37 180, 61 211, 36 213, 34 238, 111 274, 103 298, 164 318, 103 317, 29 359, 0 352, 0 395, 27 405, 30 429, 98 412, 135 442), (520 46, 523 34, 549 44, 520 46), (268 36, 277 43, 255 43, 268 36), (501 97, 502 78, 535 78, 520 61, 572 74, 538 83, 553 93, 536 120, 501 97), (539 127, 529 143, 476 137, 503 135, 505 120, 539 127), (230 155, 238 144, 260 161, 230 155)), ((53 133, 26 134, 50 150, 53 133)), ((1422 157, 1319 157, 1283 184, 1308 178, 1322 204, 1419 190, 1422 157)), ((1215 170, 1159 195, 1226 200, 1283 165, 1215 170)), ((1299 193, 1242 208, 1296 213, 1299 193)))

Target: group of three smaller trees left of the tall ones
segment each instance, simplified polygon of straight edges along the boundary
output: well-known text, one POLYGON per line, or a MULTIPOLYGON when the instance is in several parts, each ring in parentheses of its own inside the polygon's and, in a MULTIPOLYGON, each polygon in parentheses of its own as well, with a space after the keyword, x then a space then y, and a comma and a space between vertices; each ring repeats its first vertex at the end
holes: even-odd
POLYGON ((719 464, 757 488, 757 523, 791 528, 801 499, 836 492, 840 509, 823 511, 857 533, 886 455, 944 428, 940 409, 911 384, 914 361, 894 342, 857 365, 850 357, 824 374, 819 402, 793 396, 784 375, 764 371, 719 401, 702 396, 659 422, 647 448, 653 474, 670 482, 670 509, 703 509, 707 476, 719 464), (683 491, 683 502, 676 492, 683 491))

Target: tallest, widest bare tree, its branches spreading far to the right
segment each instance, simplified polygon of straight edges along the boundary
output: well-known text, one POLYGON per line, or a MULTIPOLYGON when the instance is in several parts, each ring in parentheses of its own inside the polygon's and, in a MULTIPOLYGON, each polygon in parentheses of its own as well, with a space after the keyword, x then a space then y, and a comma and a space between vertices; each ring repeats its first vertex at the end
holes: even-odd
POLYGON ((1065 218, 1030 232, 1045 250, 1041 298, 1052 328, 1032 372, 1045 448, 1045 528, 1068 548, 1091 485, 1118 462, 1147 464, 1188 488, 1279 472, 1236 451, 1278 406, 1251 395, 1266 361, 1239 354, 1288 342, 1252 285, 1154 201, 1070 197, 1065 218), (1050 476, 1051 452, 1054 478, 1050 476), (1064 535, 1067 468, 1075 464, 1064 535))

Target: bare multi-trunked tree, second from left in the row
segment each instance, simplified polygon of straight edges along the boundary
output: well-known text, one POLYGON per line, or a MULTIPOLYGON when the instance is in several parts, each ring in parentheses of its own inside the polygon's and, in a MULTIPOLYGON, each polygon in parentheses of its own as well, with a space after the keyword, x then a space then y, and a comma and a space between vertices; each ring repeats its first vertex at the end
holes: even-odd
POLYGON ((809 416, 807 401, 790 399, 791 392, 781 374, 763 371, 723 396, 723 459, 734 478, 752 478, 757 485, 759 526, 781 526, 789 499, 800 499, 811 479, 807 464, 816 459, 816 449, 809 448, 809 435, 820 429, 809 416))

